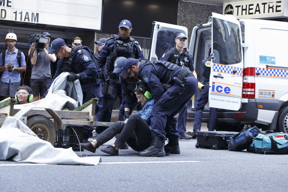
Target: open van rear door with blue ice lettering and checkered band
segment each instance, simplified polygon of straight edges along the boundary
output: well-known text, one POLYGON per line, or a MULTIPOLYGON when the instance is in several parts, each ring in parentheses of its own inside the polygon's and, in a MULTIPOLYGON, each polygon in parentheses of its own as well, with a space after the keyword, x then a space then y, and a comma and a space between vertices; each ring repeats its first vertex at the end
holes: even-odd
POLYGON ((212 13, 209 107, 239 110, 243 84, 240 22, 232 15, 212 13))

